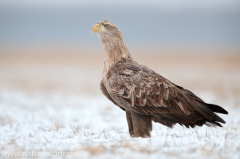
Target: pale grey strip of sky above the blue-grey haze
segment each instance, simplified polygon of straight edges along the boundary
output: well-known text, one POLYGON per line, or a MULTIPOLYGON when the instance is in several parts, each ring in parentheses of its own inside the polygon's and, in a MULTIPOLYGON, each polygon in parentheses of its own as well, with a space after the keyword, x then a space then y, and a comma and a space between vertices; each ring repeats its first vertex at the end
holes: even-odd
POLYGON ((148 7, 162 10, 235 10, 240 8, 240 0, 0 0, 0 6, 8 7, 97 7, 128 6, 148 7))

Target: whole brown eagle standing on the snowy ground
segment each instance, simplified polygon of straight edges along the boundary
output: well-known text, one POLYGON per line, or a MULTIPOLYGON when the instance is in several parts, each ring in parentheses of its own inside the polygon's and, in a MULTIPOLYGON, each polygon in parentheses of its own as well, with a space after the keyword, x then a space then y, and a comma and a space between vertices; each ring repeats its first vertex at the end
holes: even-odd
POLYGON ((126 111, 132 137, 150 137, 152 121, 170 128, 176 123, 194 128, 220 126, 216 113, 228 114, 220 106, 205 103, 191 91, 175 85, 134 61, 122 33, 110 21, 93 25, 105 52, 100 88, 115 105, 126 111))

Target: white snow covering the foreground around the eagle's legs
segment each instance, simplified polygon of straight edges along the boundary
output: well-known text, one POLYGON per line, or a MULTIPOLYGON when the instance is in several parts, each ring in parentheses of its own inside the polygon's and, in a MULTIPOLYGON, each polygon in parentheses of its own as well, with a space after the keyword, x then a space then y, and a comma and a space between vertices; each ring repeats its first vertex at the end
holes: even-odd
MULTIPOLYGON (((228 107, 223 128, 169 129, 129 137, 125 113, 102 95, 28 95, 0 91, 1 152, 81 152, 90 158, 239 158, 240 110, 228 107)), ((214 95, 204 97, 211 101, 214 95)), ((56 157, 56 156, 52 156, 56 157)))

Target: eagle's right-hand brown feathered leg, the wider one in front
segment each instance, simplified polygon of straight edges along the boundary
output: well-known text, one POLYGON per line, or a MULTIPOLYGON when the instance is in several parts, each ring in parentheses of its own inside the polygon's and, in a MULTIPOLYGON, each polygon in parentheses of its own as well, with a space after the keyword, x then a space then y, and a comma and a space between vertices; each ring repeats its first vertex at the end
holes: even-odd
POLYGON ((132 124, 133 124, 133 137, 151 137, 152 131, 152 119, 150 115, 141 115, 131 112, 132 124))

